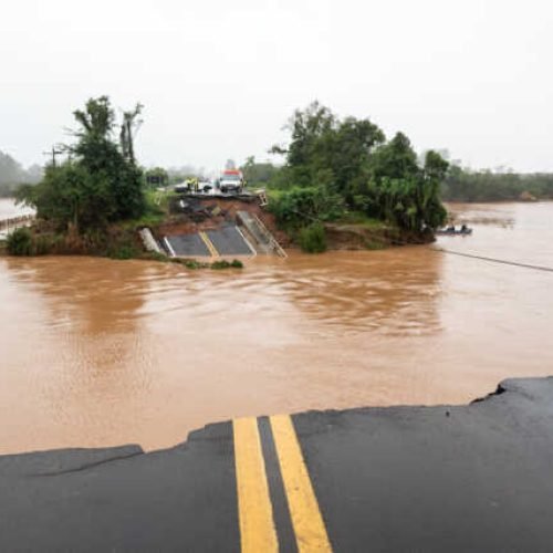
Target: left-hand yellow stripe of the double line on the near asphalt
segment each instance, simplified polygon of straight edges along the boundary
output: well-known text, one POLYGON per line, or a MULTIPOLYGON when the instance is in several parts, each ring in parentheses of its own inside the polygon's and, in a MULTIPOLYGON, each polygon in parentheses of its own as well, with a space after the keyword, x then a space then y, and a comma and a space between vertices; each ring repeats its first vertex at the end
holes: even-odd
POLYGON ((232 422, 242 553, 275 553, 279 542, 269 497, 258 419, 232 422))

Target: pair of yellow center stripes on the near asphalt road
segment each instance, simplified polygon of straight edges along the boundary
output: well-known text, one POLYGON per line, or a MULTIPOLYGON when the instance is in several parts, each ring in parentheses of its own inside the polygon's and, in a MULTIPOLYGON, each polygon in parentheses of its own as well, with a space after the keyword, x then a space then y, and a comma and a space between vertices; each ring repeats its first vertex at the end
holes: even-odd
MULTIPOLYGON (((270 417, 300 553, 331 552, 313 486, 288 415, 270 417)), ((243 553, 278 552, 272 502, 255 418, 233 421, 240 538, 243 553)))

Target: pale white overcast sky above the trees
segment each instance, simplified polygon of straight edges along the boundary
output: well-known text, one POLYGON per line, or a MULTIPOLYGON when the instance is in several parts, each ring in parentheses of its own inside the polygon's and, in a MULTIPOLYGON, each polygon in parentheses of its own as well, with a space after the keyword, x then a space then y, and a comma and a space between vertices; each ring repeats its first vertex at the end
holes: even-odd
POLYGON ((551 0, 4 0, 0 150, 43 163, 107 94, 145 104, 144 165, 217 169, 317 98, 474 168, 553 170, 552 54, 551 0))

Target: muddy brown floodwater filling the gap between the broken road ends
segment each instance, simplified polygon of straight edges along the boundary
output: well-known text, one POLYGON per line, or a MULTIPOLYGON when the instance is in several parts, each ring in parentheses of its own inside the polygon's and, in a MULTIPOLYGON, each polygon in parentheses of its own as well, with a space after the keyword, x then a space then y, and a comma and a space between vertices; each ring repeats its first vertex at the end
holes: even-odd
POLYGON ((461 404, 553 373, 553 204, 452 206, 472 237, 241 272, 0 258, 0 452, 175 445, 244 415, 461 404))

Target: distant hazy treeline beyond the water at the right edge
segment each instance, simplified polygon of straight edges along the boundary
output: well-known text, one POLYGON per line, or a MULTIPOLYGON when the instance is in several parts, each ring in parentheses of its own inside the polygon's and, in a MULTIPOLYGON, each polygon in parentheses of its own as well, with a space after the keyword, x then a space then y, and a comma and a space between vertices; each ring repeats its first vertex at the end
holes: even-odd
POLYGON ((441 197, 446 201, 553 199, 553 174, 472 171, 452 165, 441 197))

